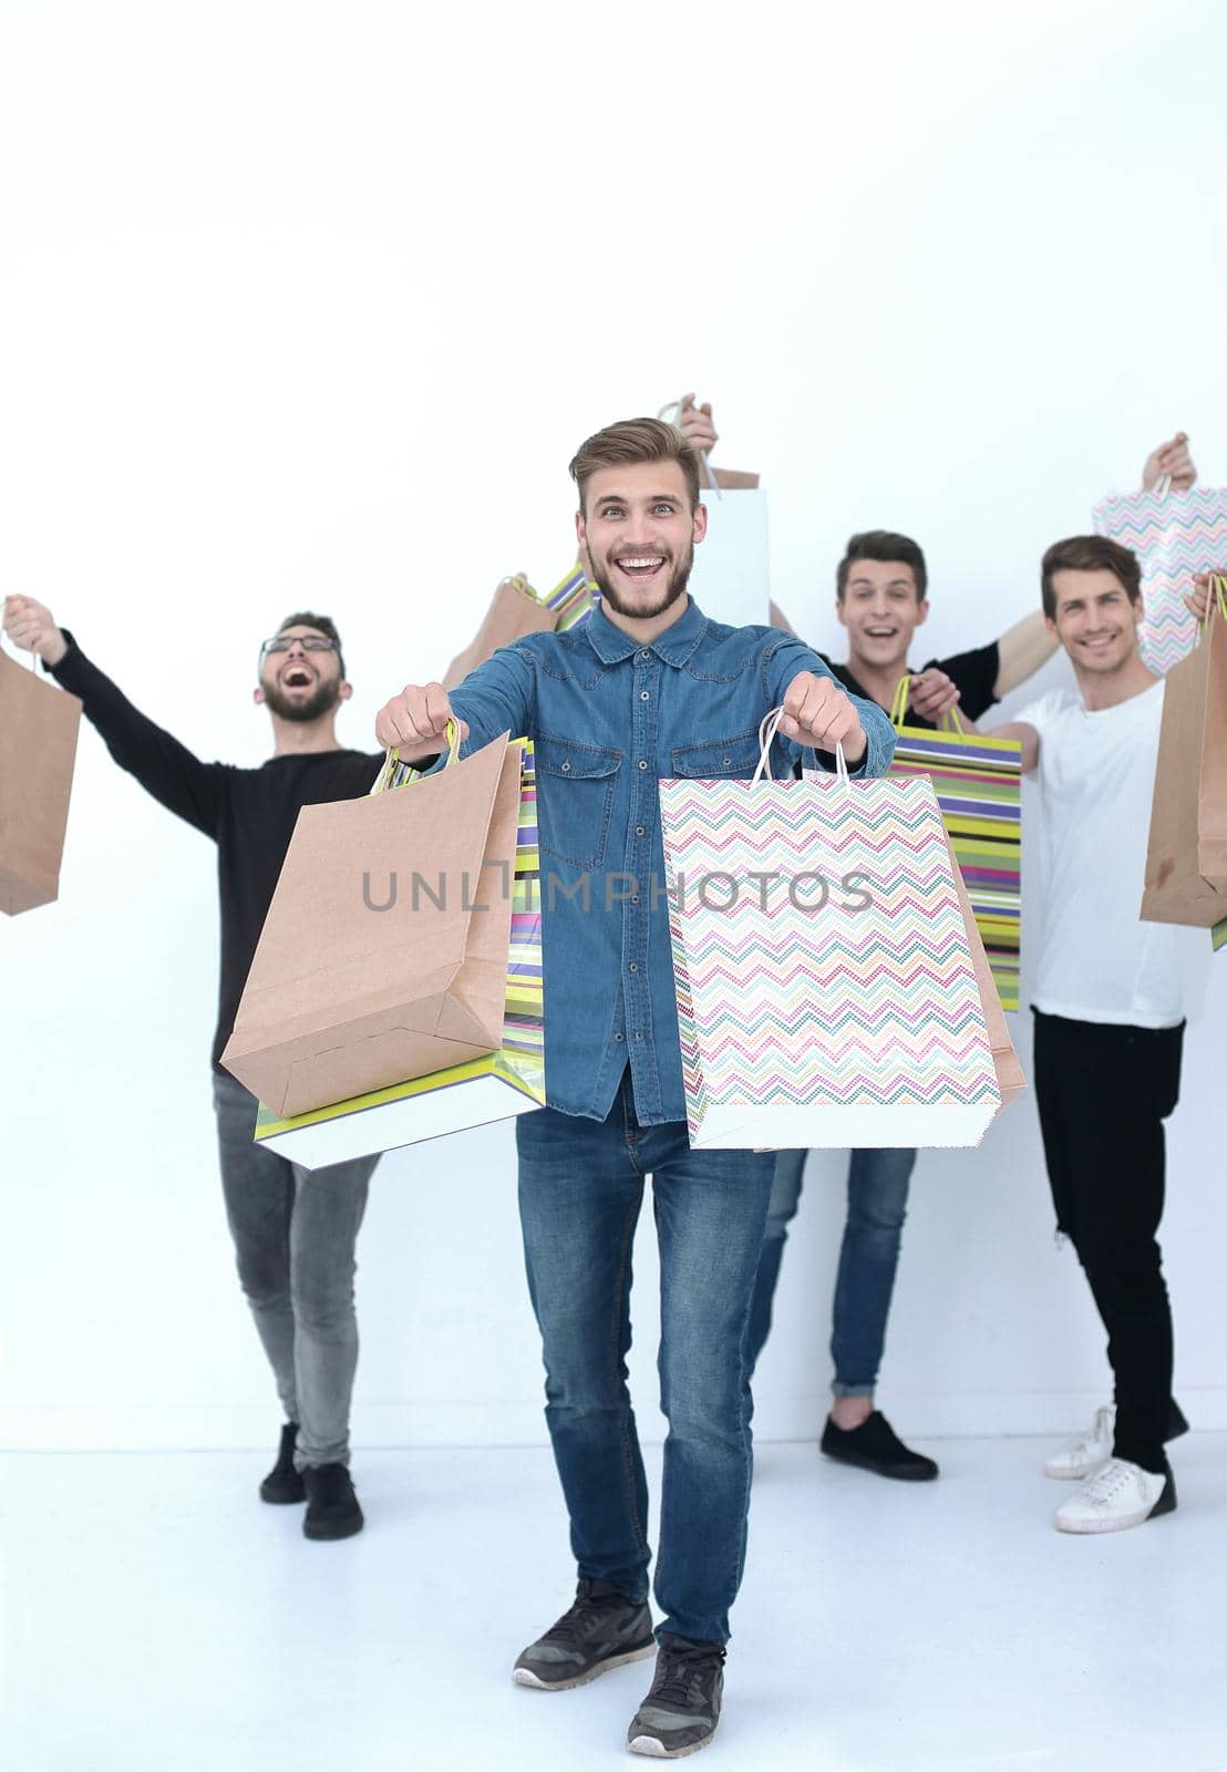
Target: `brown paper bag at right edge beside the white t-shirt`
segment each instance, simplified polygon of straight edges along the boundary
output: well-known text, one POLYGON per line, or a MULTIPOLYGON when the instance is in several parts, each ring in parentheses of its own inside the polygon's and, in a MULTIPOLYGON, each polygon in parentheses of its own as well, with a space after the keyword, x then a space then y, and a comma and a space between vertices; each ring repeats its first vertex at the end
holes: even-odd
POLYGON ((1227 916, 1227 618, 1167 673, 1142 920, 1211 929, 1227 916))

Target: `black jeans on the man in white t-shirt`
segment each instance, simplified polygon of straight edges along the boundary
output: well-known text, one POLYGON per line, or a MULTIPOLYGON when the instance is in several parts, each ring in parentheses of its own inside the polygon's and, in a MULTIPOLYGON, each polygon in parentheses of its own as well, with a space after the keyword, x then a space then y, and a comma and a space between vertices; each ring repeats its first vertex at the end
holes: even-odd
POLYGON ((1115 1375, 1115 1457, 1165 1471, 1172 1310, 1156 1232, 1163 1120, 1181 1081, 1179 1028, 1036 1014, 1036 1100, 1057 1226, 1082 1262, 1115 1375))

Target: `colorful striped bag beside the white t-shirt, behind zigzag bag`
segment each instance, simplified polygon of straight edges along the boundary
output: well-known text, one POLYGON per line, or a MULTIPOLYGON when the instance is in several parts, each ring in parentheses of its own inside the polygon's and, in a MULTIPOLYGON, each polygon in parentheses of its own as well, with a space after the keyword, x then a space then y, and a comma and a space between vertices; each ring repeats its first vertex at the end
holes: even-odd
POLYGON ((1002 1008, 1018 1008, 1021 918, 1021 744, 966 732, 957 709, 943 730, 904 725, 910 677, 901 677, 890 719, 890 774, 926 774, 975 913, 1002 1008))

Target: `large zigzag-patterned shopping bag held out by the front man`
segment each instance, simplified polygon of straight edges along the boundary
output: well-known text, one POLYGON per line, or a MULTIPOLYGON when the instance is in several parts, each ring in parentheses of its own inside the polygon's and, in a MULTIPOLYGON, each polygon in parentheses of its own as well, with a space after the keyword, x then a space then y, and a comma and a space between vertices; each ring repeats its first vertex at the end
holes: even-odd
POLYGON ((979 1145, 1002 1095, 931 781, 771 781, 771 737, 752 781, 660 783, 692 1145, 979 1145))

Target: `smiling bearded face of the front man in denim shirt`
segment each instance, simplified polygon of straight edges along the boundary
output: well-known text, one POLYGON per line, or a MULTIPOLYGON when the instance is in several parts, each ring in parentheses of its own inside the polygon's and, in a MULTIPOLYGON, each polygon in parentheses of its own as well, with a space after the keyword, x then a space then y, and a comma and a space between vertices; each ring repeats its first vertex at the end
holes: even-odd
POLYGON ((635 461, 599 468, 585 486, 574 519, 592 578, 615 611, 651 620, 677 602, 707 532, 707 512, 690 505, 676 461, 635 461))

